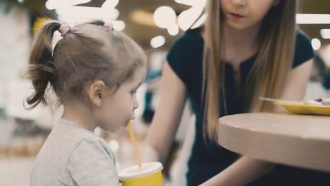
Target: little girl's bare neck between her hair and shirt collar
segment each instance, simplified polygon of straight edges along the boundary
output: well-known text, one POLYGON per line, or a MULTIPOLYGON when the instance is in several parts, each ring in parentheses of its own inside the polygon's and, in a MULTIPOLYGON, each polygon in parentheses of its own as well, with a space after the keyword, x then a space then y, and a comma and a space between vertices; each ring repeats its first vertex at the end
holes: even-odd
POLYGON ((94 132, 97 127, 93 119, 92 111, 78 101, 64 104, 64 112, 61 118, 70 120, 92 132, 94 132))

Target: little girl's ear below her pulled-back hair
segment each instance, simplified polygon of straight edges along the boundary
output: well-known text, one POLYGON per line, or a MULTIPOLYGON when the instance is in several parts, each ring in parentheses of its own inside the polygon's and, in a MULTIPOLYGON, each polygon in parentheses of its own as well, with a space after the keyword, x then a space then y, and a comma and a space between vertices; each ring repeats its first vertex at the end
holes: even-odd
POLYGON ((88 94, 90 95, 90 100, 92 101, 92 104, 94 106, 97 106, 97 107, 102 106, 102 93, 105 88, 106 88, 106 85, 101 80, 94 81, 90 85, 88 94))

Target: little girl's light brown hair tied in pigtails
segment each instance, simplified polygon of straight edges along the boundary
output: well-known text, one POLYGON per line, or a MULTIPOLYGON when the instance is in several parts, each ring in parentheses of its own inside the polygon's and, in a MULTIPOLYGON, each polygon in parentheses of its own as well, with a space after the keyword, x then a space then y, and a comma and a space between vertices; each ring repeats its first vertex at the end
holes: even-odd
POLYGON ((48 87, 54 89, 60 103, 79 99, 90 104, 87 87, 94 80, 116 90, 133 77, 136 68, 145 65, 141 47, 123 33, 102 27, 101 20, 71 27, 53 51, 51 41, 61 25, 47 21, 32 41, 27 78, 35 93, 27 98, 27 109, 48 105, 48 87))

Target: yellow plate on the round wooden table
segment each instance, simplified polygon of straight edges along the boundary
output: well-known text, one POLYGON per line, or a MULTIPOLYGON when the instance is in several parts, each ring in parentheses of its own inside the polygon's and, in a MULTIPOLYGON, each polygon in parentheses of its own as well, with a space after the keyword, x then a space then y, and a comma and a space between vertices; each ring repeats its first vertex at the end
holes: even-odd
POLYGON ((312 115, 330 116, 330 106, 317 106, 305 104, 291 104, 287 102, 276 101, 274 105, 283 106, 290 113, 302 113, 312 115))

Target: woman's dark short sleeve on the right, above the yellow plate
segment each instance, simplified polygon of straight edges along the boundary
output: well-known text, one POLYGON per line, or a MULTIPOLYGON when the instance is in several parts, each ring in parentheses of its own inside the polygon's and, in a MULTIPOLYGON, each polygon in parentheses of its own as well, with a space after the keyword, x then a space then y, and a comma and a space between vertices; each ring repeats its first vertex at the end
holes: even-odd
POLYGON ((293 68, 300 66, 302 63, 314 57, 314 50, 310 39, 302 32, 297 32, 295 38, 295 56, 293 58, 293 68))

